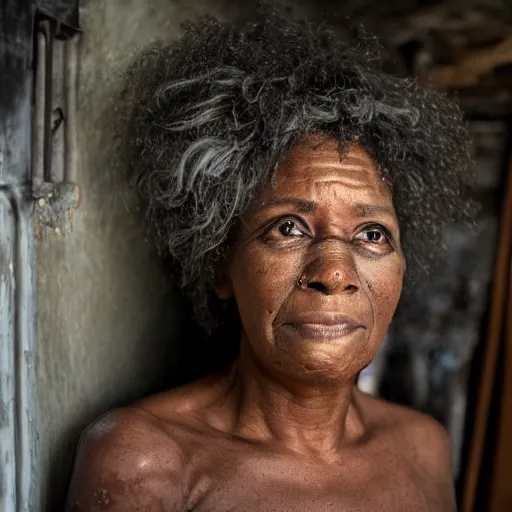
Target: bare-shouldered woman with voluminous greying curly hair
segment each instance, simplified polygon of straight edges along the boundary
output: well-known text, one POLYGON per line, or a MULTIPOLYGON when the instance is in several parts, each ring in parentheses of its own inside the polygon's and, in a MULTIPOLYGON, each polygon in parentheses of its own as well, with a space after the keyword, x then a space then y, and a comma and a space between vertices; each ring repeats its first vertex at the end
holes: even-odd
POLYGON ((189 24, 134 76, 149 227, 206 331, 239 322, 240 353, 89 427, 68 509, 455 510, 442 427, 355 383, 406 259, 428 270, 471 215, 457 107, 269 12, 189 24))

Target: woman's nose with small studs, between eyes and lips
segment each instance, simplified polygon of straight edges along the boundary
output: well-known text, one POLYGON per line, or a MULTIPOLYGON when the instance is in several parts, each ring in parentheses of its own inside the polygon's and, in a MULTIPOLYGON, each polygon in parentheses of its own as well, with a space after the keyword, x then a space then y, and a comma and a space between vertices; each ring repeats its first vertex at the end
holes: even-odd
POLYGON ((325 295, 355 293, 360 281, 351 251, 339 243, 316 247, 297 284, 325 295))

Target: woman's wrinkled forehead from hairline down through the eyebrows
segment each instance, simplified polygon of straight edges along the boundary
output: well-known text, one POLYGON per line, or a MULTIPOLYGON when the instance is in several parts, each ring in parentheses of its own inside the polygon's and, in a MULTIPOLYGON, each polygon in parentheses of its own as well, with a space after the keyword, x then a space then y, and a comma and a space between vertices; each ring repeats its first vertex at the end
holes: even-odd
POLYGON ((385 215, 396 220, 391 191, 371 155, 360 144, 340 152, 338 142, 326 138, 297 143, 244 217, 290 209, 332 219, 385 215))

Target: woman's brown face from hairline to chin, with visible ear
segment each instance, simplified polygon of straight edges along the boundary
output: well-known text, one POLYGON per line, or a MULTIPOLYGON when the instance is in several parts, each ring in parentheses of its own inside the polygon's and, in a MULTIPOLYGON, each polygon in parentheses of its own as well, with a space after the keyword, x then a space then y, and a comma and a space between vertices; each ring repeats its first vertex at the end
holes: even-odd
POLYGON ((291 379, 353 377, 395 311, 405 263, 392 197, 360 145, 298 142, 240 219, 221 297, 246 354, 291 379))

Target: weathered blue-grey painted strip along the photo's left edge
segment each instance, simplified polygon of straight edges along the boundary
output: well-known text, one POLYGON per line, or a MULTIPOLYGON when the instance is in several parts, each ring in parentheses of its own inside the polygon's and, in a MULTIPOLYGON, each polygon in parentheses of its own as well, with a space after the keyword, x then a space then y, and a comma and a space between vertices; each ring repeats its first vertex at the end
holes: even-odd
POLYGON ((35 503, 30 0, 0 2, 0 511, 35 503))

